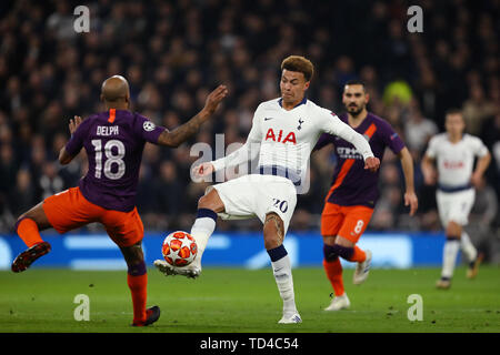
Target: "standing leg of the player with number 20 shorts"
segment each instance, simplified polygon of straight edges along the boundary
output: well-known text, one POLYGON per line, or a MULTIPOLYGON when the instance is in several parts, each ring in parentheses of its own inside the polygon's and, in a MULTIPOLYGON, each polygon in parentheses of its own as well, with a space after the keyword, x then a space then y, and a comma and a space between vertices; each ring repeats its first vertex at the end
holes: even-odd
POLYGON ((280 324, 302 323, 297 311, 290 257, 283 246, 283 221, 276 213, 268 213, 263 225, 264 246, 271 258, 272 273, 283 301, 280 324))

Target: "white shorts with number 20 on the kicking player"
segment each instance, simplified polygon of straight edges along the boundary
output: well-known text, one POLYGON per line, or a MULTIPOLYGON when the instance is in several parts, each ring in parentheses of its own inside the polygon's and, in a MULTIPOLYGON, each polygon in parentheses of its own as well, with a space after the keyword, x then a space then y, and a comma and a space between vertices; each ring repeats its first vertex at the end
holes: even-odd
POLYGON ((222 220, 248 220, 258 217, 262 223, 270 212, 283 221, 287 234, 297 205, 297 190, 287 178, 250 174, 207 187, 216 189, 226 211, 219 213, 222 220))

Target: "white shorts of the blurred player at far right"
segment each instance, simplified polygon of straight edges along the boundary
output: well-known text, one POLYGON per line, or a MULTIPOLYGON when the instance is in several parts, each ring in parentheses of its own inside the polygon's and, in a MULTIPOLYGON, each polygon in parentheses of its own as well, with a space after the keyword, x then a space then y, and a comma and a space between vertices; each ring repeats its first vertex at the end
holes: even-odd
POLYGON ((460 225, 469 223, 469 213, 472 210, 476 199, 476 190, 468 189, 458 192, 436 192, 439 217, 446 227, 450 221, 460 225))

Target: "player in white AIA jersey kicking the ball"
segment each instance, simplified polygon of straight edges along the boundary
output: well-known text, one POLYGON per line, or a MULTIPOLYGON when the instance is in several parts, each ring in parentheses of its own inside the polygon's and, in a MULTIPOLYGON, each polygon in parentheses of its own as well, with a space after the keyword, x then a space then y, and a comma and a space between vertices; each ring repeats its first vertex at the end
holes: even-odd
POLYGON ((199 200, 197 220, 191 229, 198 255, 190 265, 174 267, 164 261, 156 261, 154 265, 166 275, 197 277, 217 216, 257 216, 263 223, 264 247, 283 301, 283 316, 279 323, 301 323, 294 302, 290 258, 282 243, 297 203, 296 186, 303 187, 307 180, 310 153, 320 134, 327 132, 351 142, 364 158, 364 169, 376 171, 380 161, 361 134, 331 111, 306 99, 313 73, 309 60, 291 55, 283 60, 281 71, 281 98, 257 108, 246 144, 226 158, 202 163, 193 170, 196 175, 207 176, 259 156, 258 172, 210 186, 199 200))

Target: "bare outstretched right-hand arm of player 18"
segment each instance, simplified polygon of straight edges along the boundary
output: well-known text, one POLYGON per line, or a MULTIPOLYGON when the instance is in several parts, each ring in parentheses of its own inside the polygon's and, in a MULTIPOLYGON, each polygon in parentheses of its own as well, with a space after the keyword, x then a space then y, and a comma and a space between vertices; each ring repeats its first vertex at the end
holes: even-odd
POLYGON ((219 103, 228 94, 226 85, 219 85, 208 97, 204 108, 191 120, 174 129, 173 131, 164 130, 158 138, 158 144, 177 148, 186 142, 189 138, 198 132, 200 125, 206 122, 216 112, 219 103))

